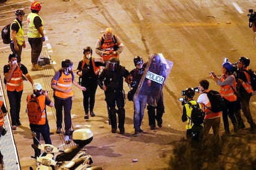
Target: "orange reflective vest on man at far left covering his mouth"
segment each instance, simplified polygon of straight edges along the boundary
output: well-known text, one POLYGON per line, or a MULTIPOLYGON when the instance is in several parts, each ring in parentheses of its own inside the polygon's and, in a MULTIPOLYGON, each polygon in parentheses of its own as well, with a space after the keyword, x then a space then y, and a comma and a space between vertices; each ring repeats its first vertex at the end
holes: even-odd
MULTIPOLYGON (((11 69, 9 70, 11 73, 11 69)), ((12 74, 12 78, 9 82, 6 83, 7 91, 22 91, 23 90, 23 79, 22 79, 22 70, 20 70, 20 66, 18 65, 17 68, 14 70, 12 74)))

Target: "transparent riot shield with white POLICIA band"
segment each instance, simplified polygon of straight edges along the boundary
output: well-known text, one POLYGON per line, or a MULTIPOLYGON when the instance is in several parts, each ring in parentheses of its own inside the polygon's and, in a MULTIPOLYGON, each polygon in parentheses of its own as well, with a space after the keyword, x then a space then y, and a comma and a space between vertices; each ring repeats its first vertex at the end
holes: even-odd
POLYGON ((134 94, 135 99, 138 95, 144 95, 148 98, 148 105, 156 106, 161 97, 163 85, 172 68, 173 62, 164 59, 163 54, 151 54, 134 94))

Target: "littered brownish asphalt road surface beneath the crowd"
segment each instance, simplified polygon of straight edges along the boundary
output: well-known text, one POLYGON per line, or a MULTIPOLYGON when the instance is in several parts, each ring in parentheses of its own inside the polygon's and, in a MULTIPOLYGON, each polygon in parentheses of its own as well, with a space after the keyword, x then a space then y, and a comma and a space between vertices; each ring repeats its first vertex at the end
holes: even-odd
MULTIPOLYGON (((181 91, 187 87, 197 87, 201 79, 208 79, 210 71, 221 73, 224 57, 234 63, 239 57, 250 58, 250 67, 256 70, 254 32, 249 28, 248 10, 256 6, 256 1, 229 0, 45 0, 40 1, 40 15, 45 22, 45 31, 50 44, 51 59, 56 65, 43 71, 30 71, 35 82, 42 83, 51 94, 49 83, 54 70, 61 67, 61 60, 74 62, 74 70, 82 58, 82 49, 95 48, 101 31, 111 27, 124 44, 120 55, 121 65, 127 70, 134 68, 136 55, 147 61, 148 56, 162 53, 174 63, 173 69, 164 85, 165 113, 163 127, 151 131, 148 126, 147 111, 142 129, 146 132, 133 137, 133 105, 126 100, 126 133, 111 134, 108 125, 105 96, 98 88, 96 92, 94 118, 83 119, 82 92, 74 87, 72 119, 73 127, 90 128, 94 133, 93 141, 87 145, 87 151, 93 156, 94 164, 105 169, 165 169, 168 168, 172 144, 186 137, 185 124, 181 121, 182 105, 178 101, 181 91), (132 159, 138 159, 133 163, 132 159)), ((23 9, 25 18, 30 12, 31 1, 10 0, 0 4, 0 26, 14 20, 14 11, 23 9)), ((256 8, 255 8, 256 10, 256 8)), ((27 23, 23 23, 27 28, 27 23)), ((27 33, 27 29, 25 29, 27 33)), ((27 36, 26 36, 27 41, 27 36)), ((0 43, 1 67, 7 63, 9 46, 0 43)), ((95 53, 93 55, 96 56, 95 53)), ((30 63, 30 45, 22 52, 22 63, 28 69, 30 63)), ((2 77, 2 75, 1 75, 2 77)), ((78 77, 76 77, 78 79, 78 77)), ((218 86, 209 79, 210 88, 218 86)), ((22 169, 35 167, 30 158, 32 137, 25 113, 25 97, 32 92, 29 83, 25 83, 23 92, 21 123, 14 131, 15 142, 22 169)), ((124 83, 124 90, 129 88, 124 83)), ((195 96, 195 99, 197 99, 195 96)), ((51 99, 53 99, 51 97, 51 99)), ((8 101, 7 101, 8 102, 8 101)), ((9 105, 7 105, 9 107, 9 105)), ((251 105, 254 112, 255 107, 251 105)), ((54 145, 62 144, 63 136, 56 134, 54 109, 48 108, 51 138, 54 145)), ((249 124, 245 124, 247 128, 249 124)), ((43 141, 42 141, 43 142, 43 141)))

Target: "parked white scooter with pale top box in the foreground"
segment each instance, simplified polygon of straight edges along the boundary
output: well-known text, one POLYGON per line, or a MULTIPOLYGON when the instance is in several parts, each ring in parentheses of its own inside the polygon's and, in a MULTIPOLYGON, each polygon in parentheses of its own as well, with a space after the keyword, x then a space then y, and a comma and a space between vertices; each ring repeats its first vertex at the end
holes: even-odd
POLYGON ((90 144, 93 139, 93 133, 90 129, 75 130, 72 134, 72 139, 76 145, 71 146, 64 151, 59 150, 59 148, 56 148, 53 145, 39 144, 38 148, 43 151, 43 153, 36 158, 36 163, 38 163, 36 169, 103 169, 101 167, 92 167, 92 156, 88 155, 85 152, 86 150, 83 149, 83 147, 90 144), (60 154, 54 159, 53 153, 60 154))

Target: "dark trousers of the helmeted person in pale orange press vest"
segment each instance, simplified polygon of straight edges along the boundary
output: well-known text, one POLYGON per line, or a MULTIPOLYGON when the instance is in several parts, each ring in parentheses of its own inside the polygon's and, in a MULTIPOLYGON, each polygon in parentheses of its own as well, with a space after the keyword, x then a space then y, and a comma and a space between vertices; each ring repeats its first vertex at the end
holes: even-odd
POLYGON ((71 129, 71 108, 72 108, 72 97, 67 99, 61 99, 54 95, 54 107, 56 109, 57 128, 62 128, 62 108, 64 109, 64 123, 65 123, 65 134, 70 135, 71 129))

